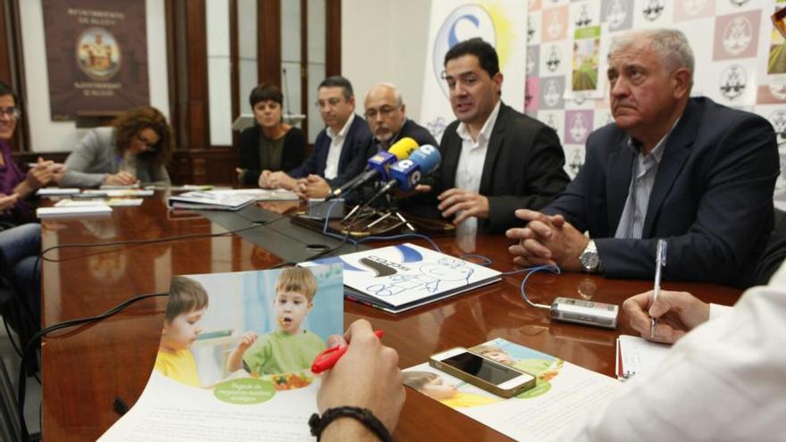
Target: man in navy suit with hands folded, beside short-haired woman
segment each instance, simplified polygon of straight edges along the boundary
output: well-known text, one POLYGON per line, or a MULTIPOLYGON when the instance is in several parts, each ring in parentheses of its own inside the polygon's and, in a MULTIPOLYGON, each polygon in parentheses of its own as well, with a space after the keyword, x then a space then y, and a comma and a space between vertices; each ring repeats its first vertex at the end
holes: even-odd
POLYGON ((263 188, 287 188, 305 198, 322 198, 364 170, 372 134, 363 118, 355 115, 352 84, 341 76, 322 80, 317 105, 325 129, 316 136, 314 154, 296 169, 272 172, 263 188))

